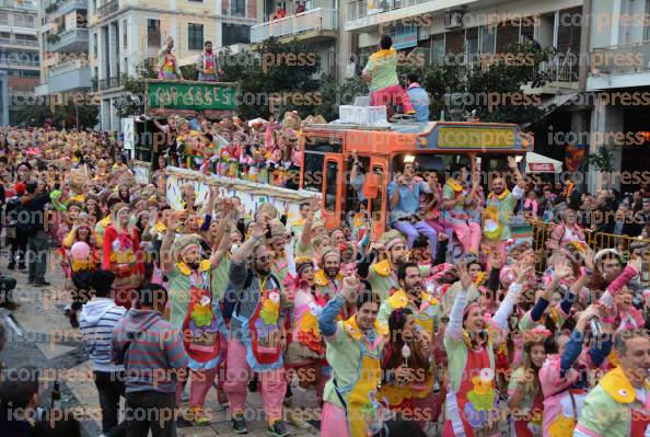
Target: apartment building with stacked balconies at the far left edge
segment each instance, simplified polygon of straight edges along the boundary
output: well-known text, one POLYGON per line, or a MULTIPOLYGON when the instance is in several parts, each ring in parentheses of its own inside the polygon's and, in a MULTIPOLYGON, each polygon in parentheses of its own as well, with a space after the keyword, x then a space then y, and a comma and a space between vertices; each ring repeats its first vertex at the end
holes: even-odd
POLYGON ((36 0, 0 0, 0 124, 19 124, 39 77, 36 0))

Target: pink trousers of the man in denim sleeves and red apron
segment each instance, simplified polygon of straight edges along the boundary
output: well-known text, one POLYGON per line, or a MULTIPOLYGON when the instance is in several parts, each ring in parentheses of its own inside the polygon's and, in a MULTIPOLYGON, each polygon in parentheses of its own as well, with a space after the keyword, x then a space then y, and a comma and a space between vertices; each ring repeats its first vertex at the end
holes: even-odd
MULTIPOLYGON (((234 416, 246 409, 247 384, 251 379, 251 366, 246 361, 246 347, 231 338, 228 343, 228 363, 223 389, 230 403, 230 412, 234 416)), ((285 368, 259 372, 262 382, 262 403, 269 423, 282 417, 282 401, 287 392, 285 368)))

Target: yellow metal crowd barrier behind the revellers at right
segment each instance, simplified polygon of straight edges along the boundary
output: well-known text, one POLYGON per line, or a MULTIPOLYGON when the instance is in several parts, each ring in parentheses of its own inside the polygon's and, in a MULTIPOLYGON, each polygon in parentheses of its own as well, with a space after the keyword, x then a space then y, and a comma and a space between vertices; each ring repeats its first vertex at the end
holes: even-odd
MULTIPOLYGON (((533 228, 533 248, 537 252, 536 271, 544 273, 546 271, 546 262, 554 249, 546 245, 550 239, 554 223, 547 223, 538 220, 527 220, 533 228)), ((627 262, 630 257, 640 255, 642 257, 642 273, 641 280, 646 284, 650 281, 650 274, 648 266, 650 264, 650 239, 641 239, 639 237, 614 235, 611 233, 595 232, 590 229, 583 229, 584 240, 587 244, 597 252, 602 249, 616 249, 622 255, 623 262, 627 262)))

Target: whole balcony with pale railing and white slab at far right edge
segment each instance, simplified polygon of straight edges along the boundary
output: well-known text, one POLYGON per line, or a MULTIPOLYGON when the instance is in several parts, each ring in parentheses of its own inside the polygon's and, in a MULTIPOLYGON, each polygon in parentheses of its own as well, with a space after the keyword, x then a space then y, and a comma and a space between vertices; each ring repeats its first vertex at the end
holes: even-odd
POLYGON ((650 41, 594 48, 588 91, 650 85, 650 41))

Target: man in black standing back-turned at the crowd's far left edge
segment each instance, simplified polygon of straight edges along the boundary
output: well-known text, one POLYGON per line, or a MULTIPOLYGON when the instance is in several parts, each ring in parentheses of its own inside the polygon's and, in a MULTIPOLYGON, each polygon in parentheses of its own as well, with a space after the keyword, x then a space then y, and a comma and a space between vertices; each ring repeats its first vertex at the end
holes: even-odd
POLYGON ((30 182, 27 184, 27 194, 23 198, 23 205, 30 217, 23 217, 23 220, 28 220, 27 264, 30 273, 27 284, 34 284, 34 287, 49 285, 45 280, 48 244, 47 233, 45 232, 45 206, 48 203, 49 192, 45 189, 45 184, 30 182))

